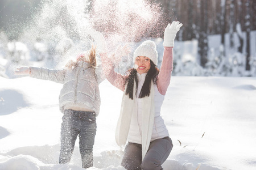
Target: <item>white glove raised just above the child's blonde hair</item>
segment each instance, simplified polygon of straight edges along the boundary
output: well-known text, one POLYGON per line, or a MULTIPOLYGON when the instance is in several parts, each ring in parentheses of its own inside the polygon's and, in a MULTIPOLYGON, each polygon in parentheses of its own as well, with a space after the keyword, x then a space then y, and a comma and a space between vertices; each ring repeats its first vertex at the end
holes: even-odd
POLYGON ((100 53, 108 53, 106 40, 105 40, 104 36, 102 35, 102 33, 96 31, 95 29, 89 29, 88 33, 94 39, 94 41, 96 41, 97 50, 100 53))

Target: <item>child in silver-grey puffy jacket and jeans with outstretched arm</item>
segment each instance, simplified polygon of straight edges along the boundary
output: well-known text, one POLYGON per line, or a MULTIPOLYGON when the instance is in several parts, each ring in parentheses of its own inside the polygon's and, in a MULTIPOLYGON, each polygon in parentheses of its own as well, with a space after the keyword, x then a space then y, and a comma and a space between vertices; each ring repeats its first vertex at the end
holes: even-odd
POLYGON ((100 111, 98 85, 105 79, 101 68, 96 67, 96 48, 77 56, 76 62, 69 61, 64 69, 51 70, 39 67, 20 67, 15 75, 63 83, 59 106, 63 112, 61 124, 61 148, 59 163, 70 162, 77 135, 82 159, 82 168, 93 167, 93 145, 96 135, 96 117, 100 111))

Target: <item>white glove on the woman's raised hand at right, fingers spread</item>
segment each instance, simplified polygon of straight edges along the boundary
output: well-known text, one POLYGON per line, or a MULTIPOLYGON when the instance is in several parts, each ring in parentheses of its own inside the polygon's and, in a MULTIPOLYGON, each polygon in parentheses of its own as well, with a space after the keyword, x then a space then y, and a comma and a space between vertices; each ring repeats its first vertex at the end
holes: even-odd
POLYGON ((164 42, 163 46, 174 46, 174 39, 176 37, 176 33, 180 30, 182 24, 180 22, 172 22, 172 24, 168 24, 166 29, 164 30, 164 42))

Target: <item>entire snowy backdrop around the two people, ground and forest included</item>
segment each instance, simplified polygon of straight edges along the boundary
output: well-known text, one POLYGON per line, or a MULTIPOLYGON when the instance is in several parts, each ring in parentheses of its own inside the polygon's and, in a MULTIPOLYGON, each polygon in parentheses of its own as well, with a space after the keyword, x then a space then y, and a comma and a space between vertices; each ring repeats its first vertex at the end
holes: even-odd
MULTIPOLYGON (((163 168, 256 169, 255 12, 254 0, 0 0, 0 169, 82 169, 78 143, 72 162, 58 164, 62 84, 15 76, 16 67, 65 66, 90 48, 90 28, 104 34, 110 54, 131 45, 120 73, 147 39, 157 45, 160 67, 164 28, 173 20, 183 27, 161 110, 174 143, 163 168)), ((114 131, 122 92, 108 80, 100 91, 89 169, 121 170, 114 131)))

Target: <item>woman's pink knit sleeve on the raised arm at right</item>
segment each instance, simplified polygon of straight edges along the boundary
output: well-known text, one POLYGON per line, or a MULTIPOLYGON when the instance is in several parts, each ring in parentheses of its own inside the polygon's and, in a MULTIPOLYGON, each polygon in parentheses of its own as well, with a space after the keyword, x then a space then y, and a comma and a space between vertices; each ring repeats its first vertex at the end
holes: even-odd
POLYGON ((166 95, 167 88, 171 81, 171 74, 173 69, 172 49, 174 47, 164 46, 163 61, 160 67, 160 73, 156 82, 158 91, 162 95, 166 95))

